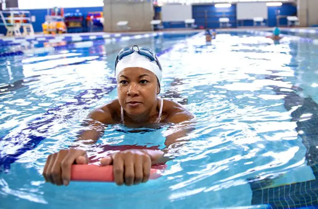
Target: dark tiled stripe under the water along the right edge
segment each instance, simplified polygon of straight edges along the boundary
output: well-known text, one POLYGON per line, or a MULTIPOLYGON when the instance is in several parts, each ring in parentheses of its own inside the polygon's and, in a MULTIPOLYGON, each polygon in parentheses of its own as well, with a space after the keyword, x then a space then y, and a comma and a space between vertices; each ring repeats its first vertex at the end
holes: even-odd
MULTIPOLYGON (((269 75, 269 80, 280 77, 269 75)), ((269 204, 271 208, 301 208, 318 206, 318 104, 311 98, 300 97, 295 88, 286 89, 270 86, 277 95, 285 95, 284 107, 290 111, 299 106, 292 113, 291 121, 296 122, 296 131, 306 147, 305 159, 315 176, 314 180, 296 182, 277 187, 270 187, 275 178, 251 181, 252 205, 269 204), (309 118, 302 118, 304 114, 312 114, 309 118)))

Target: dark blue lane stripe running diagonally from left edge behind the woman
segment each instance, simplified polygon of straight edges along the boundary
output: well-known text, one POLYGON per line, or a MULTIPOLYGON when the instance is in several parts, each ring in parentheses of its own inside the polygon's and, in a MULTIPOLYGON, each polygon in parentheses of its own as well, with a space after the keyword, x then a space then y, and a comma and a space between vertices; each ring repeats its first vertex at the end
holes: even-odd
MULTIPOLYGON (((188 39, 191 39, 193 37, 196 36, 201 36, 203 35, 204 32, 198 33, 188 39)), ((187 40, 187 39, 186 39, 187 40)), ((182 42, 186 41, 186 40, 182 40, 182 42)), ((161 52, 159 52, 157 55, 161 56, 165 53, 168 53, 169 51, 171 51, 173 48, 176 47, 176 45, 180 44, 176 43, 173 46, 162 50, 161 52)), ((8 171, 10 169, 10 165, 14 162, 16 162, 19 157, 24 154, 25 152, 34 149, 35 147, 37 147, 43 140, 46 139, 46 137, 44 136, 49 128, 54 125, 52 124, 52 122, 58 118, 58 119, 69 119, 72 117, 72 114, 68 114, 67 116, 62 116, 59 115, 59 112, 62 112, 63 109, 65 107, 68 106, 74 106, 74 108, 72 109, 68 109, 69 113, 74 113, 78 110, 78 106, 81 105, 87 105, 87 104, 91 104, 96 102, 95 100, 99 100, 101 99, 105 94, 110 93, 111 91, 113 91, 116 88, 116 79, 114 77, 109 77, 108 80, 111 81, 111 85, 110 86, 106 86, 102 89, 87 89, 84 92, 80 93, 79 95, 75 96, 74 99, 77 100, 77 102, 68 102, 66 104, 60 105, 58 107, 49 109, 46 111, 46 113, 44 113, 41 117, 38 117, 36 119, 34 119, 33 121, 28 122, 28 126, 26 128, 24 128, 22 131, 20 131, 18 134, 15 134, 14 136, 9 136, 9 134, 5 135, 4 137, 0 138, 0 141, 13 141, 13 145, 15 146, 21 146, 21 138, 28 138, 29 140, 22 145, 21 148, 19 148, 15 153, 13 154, 6 154, 6 155, 1 155, 0 153, 0 172, 2 171, 8 171), (93 99, 92 97, 90 98, 85 98, 85 95, 91 95, 93 94, 93 99), (45 128, 41 128, 45 126, 45 128), (29 134, 32 131, 37 131, 37 135, 36 134, 29 134), (25 134, 26 133, 26 134, 25 134)), ((88 106, 84 106, 83 109, 89 109, 91 107, 88 106)), ((12 143, 10 143, 12 145, 12 143)), ((4 149, 4 147, 2 147, 4 149)))

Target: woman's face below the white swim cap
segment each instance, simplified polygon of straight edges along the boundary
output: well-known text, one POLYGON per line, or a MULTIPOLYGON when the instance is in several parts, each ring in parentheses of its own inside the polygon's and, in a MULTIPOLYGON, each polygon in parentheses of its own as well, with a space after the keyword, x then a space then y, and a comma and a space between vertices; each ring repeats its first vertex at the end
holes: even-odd
POLYGON ((159 84, 156 75, 141 67, 128 67, 119 74, 119 104, 130 115, 142 115, 157 106, 159 84))

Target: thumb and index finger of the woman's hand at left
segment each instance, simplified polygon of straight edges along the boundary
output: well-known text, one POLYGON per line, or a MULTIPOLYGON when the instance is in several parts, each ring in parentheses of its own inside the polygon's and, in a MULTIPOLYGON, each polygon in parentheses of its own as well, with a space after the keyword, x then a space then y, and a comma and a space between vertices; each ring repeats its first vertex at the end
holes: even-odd
MULTIPOLYGON (((62 151, 62 150, 61 150, 62 151)), ((60 152, 61 152, 60 151, 60 152)), ((61 161, 61 181, 65 186, 68 186, 70 181, 71 166, 76 162, 79 164, 87 164, 88 157, 84 150, 81 149, 69 149, 68 153, 61 161)))

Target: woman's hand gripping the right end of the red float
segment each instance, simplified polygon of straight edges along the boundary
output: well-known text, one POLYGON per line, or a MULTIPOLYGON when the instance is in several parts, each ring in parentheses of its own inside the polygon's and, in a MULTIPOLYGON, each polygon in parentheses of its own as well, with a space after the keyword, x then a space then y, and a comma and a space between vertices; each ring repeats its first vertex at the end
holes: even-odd
POLYGON ((113 165, 117 185, 131 186, 149 180, 151 165, 163 155, 160 150, 129 149, 103 158, 102 166, 113 165))

